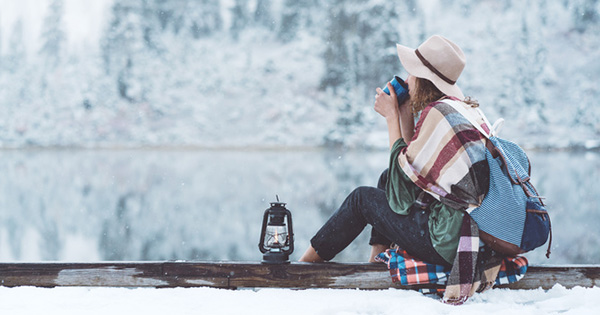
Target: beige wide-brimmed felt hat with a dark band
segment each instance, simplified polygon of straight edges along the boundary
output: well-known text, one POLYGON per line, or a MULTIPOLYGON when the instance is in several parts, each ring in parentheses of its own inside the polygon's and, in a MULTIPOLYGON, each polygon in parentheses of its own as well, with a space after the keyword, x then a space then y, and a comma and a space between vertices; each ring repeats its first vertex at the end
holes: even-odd
POLYGON ((464 99, 456 80, 465 68, 465 54, 455 43, 440 36, 429 37, 419 48, 396 45, 398 57, 406 71, 427 79, 444 94, 464 99))

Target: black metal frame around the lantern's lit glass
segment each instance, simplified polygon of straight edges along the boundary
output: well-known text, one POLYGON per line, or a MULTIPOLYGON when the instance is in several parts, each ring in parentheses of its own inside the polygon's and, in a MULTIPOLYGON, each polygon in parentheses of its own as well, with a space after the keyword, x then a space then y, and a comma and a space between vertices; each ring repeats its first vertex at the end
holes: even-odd
POLYGON ((286 209, 284 202, 271 202, 271 207, 265 210, 260 232, 258 248, 263 253, 263 264, 286 264, 289 263, 290 254, 294 251, 294 228, 292 224, 292 213, 286 209), (286 227, 287 235, 280 246, 267 246, 265 237, 269 227, 286 227))

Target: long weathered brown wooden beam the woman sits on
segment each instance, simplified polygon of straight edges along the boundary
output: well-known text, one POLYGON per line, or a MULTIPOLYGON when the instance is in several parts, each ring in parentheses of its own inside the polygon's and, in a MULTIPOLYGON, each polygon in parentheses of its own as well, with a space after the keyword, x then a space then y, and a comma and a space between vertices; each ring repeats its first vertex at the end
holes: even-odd
MULTIPOLYGON (((600 286, 600 265, 530 266, 525 277, 505 285, 510 289, 549 289, 555 284, 600 286)), ((419 289, 436 285, 392 283, 383 264, 259 262, 99 262, 0 263, 0 285, 6 287, 213 287, 213 288, 336 288, 419 289)))

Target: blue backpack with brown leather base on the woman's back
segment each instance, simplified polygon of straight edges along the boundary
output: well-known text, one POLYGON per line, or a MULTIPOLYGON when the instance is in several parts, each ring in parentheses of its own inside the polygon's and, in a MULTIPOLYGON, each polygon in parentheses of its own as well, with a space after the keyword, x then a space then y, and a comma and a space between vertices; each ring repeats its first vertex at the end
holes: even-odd
MULTIPOLYGON (((552 243, 550 216, 542 197, 531 184, 531 165, 523 149, 483 130, 464 103, 448 100, 446 103, 488 139, 489 190, 479 207, 467 210, 479 226, 480 239, 498 252, 516 256, 544 245, 550 236, 546 252, 549 257, 552 243)), ((490 126, 481 110, 474 110, 490 126)), ((490 126, 490 130, 494 129, 490 126)))

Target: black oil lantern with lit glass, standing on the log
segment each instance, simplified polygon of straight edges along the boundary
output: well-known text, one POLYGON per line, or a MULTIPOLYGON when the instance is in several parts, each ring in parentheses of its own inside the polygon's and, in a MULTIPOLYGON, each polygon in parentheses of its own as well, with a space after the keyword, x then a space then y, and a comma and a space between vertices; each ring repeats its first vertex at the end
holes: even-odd
POLYGON ((285 208, 285 203, 279 202, 279 196, 277 202, 271 202, 271 207, 265 210, 258 248, 263 253, 263 264, 290 262, 294 251, 292 213, 285 208))

